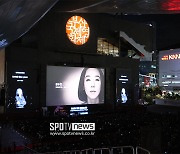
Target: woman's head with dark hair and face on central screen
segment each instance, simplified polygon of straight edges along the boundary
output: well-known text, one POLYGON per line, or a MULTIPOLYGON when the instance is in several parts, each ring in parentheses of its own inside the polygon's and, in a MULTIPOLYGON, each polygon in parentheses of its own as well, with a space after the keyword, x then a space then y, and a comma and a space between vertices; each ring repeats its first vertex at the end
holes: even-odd
POLYGON ((79 81, 78 97, 86 104, 104 102, 104 75, 101 69, 83 69, 79 81))

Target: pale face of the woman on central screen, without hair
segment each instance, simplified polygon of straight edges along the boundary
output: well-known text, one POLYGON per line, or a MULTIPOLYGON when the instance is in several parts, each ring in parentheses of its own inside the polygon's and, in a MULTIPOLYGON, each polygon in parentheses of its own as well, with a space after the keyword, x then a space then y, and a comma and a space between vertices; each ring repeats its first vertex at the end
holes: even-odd
POLYGON ((87 69, 84 77, 84 88, 87 97, 90 99, 95 99, 99 96, 101 91, 101 78, 96 68, 87 69))

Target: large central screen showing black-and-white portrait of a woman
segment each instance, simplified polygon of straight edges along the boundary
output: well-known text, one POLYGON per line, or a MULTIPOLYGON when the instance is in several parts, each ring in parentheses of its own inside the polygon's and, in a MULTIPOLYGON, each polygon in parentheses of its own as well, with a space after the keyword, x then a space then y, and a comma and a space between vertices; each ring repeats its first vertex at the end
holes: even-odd
POLYGON ((47 106, 102 103, 104 69, 47 66, 47 106))

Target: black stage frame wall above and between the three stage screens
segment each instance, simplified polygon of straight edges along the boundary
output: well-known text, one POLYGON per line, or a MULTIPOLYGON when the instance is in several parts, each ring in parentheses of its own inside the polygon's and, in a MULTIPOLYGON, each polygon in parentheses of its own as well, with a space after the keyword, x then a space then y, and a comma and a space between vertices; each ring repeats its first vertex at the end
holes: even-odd
MULTIPOLYGON (((116 68, 128 69, 133 75, 132 81, 132 96, 133 88, 138 84, 138 66, 139 61, 130 58, 119 58, 112 56, 101 55, 88 55, 78 53, 59 53, 46 51, 43 54, 37 54, 38 50, 32 50, 26 48, 13 48, 7 49, 7 64, 10 68, 27 68, 35 69, 37 71, 37 85, 39 93, 38 106, 45 106, 46 102, 46 66, 82 66, 82 67, 102 67, 106 70, 106 88, 105 88, 105 100, 106 103, 112 103, 116 98, 116 68), (16 56, 18 53, 19 56, 16 56), (26 55, 26 56, 25 56, 26 55), (23 57, 22 57, 23 56, 23 57)), ((8 67, 9 68, 9 67, 8 67)), ((7 69, 8 69, 7 68, 7 69)), ((8 74, 8 70, 7 70, 8 74)), ((6 75, 7 75, 6 74, 6 75)), ((32 85, 33 86, 33 85, 32 85)), ((134 96, 132 98, 134 100, 134 96)), ((134 100, 136 101, 136 100, 134 100)))

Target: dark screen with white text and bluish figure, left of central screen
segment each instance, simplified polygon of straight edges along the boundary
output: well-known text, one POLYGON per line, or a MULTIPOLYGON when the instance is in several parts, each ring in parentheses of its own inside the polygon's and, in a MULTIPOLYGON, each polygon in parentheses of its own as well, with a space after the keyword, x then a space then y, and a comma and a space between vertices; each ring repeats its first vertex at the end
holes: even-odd
POLYGON ((9 67, 6 89, 7 111, 28 111, 37 108, 38 88, 35 70, 9 67))

